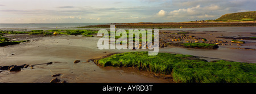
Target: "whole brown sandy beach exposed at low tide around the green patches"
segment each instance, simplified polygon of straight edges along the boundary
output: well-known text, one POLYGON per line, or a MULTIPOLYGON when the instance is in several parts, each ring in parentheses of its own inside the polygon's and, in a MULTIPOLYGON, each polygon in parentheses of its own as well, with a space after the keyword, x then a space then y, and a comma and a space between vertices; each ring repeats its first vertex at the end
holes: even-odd
MULTIPOLYGON (((94 29, 102 28, 2 28, 2 31, 31 31, 36 29, 94 29)), ((106 28, 109 29, 109 28, 106 28)), ((128 28, 115 28, 128 29, 128 28)), ((136 28, 143 29, 143 28, 136 28)), ((159 29, 159 45, 176 42, 205 42, 218 41, 218 49, 184 48, 168 44, 160 46, 160 53, 175 53, 195 55, 206 59, 208 62, 214 60, 226 60, 235 62, 255 63, 256 40, 236 39, 245 41, 245 44, 232 43, 233 39, 223 37, 255 37, 256 27, 205 27, 205 28, 161 28, 159 29), (186 32, 178 34, 179 32, 186 32), (193 36, 194 39, 185 39, 193 36), (175 37, 175 38, 174 38, 175 37), (182 39, 172 41, 172 39, 182 39), (223 44, 223 45, 222 45, 223 44)), ((30 40, 16 45, 2 46, 0 48, 0 66, 11 65, 34 65, 23 68, 20 71, 1 70, 0 82, 45 82, 58 78, 60 82, 140 82, 140 83, 170 83, 172 78, 169 75, 160 75, 150 71, 137 70, 129 67, 102 67, 93 61, 92 58, 100 58, 111 53, 139 52, 148 50, 100 50, 97 48, 97 41, 101 37, 83 37, 81 35, 27 35, 7 34, 11 40, 30 40), (80 60, 79 63, 73 63, 80 60), (46 65, 43 63, 52 62, 46 65), (42 65, 40 65, 42 64, 42 65), (53 77, 52 75, 60 74, 53 77), (170 76, 169 76, 170 77, 170 76)))

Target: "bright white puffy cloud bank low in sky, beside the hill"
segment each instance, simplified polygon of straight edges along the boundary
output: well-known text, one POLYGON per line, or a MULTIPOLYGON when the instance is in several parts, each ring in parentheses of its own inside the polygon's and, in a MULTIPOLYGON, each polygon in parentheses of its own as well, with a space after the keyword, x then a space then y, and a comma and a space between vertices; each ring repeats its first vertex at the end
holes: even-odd
POLYGON ((218 5, 209 5, 209 6, 201 6, 196 5, 188 8, 180 8, 172 11, 160 10, 156 15, 158 15, 159 19, 162 20, 172 20, 170 22, 184 22, 190 20, 208 20, 208 19, 216 19, 220 16, 222 7, 218 5))

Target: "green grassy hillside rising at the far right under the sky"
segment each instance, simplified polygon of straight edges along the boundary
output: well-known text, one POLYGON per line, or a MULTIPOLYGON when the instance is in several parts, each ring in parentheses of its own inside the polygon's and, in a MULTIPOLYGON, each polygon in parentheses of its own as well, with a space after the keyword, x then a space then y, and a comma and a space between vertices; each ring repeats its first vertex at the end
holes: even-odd
POLYGON ((225 14, 216 21, 253 21, 256 20, 256 11, 236 12, 233 14, 225 14))

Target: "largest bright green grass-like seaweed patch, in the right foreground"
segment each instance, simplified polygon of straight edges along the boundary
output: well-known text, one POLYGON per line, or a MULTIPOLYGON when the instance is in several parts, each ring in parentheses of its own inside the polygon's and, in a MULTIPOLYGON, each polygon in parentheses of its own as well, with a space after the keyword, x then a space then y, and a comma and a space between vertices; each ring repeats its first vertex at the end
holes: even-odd
POLYGON ((102 66, 134 67, 160 74, 170 74, 184 83, 255 83, 256 64, 229 61, 207 62, 193 55, 127 52, 95 59, 102 66))

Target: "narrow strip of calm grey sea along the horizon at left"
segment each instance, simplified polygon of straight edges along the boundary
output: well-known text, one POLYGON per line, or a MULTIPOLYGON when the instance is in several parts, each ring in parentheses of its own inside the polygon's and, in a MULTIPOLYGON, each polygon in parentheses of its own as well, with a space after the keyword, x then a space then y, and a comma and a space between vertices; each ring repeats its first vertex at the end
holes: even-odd
POLYGON ((86 25, 106 23, 28 23, 28 24, 0 24, 0 28, 72 28, 86 25))

